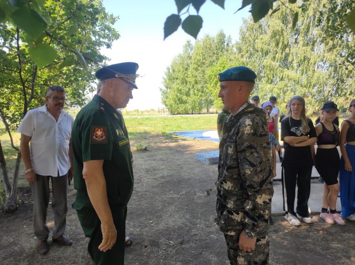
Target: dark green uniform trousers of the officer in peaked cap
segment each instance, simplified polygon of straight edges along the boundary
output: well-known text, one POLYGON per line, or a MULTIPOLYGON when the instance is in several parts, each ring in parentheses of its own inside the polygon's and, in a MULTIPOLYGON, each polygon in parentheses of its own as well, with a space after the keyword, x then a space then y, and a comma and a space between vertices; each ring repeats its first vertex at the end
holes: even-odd
POLYGON ((113 223, 117 230, 117 240, 110 250, 106 252, 98 249, 102 242, 101 221, 93 206, 84 206, 77 209, 77 215, 86 237, 90 238, 88 251, 93 265, 123 265, 125 250, 125 223, 127 206, 110 205, 113 223))

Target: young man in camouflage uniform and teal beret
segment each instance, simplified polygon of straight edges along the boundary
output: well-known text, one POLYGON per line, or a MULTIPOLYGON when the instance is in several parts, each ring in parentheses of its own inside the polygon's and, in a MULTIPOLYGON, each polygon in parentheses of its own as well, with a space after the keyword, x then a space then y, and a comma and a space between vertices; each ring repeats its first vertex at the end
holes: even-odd
POLYGON ((248 102, 255 78, 245 66, 218 75, 218 97, 232 115, 219 144, 215 221, 232 265, 268 264, 269 259, 273 176, 265 113, 248 102))

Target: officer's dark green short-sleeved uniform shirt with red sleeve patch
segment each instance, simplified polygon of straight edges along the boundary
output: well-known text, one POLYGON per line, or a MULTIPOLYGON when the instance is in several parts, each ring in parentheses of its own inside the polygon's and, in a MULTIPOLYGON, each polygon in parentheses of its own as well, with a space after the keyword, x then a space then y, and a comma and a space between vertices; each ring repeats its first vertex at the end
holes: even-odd
POLYGON ((123 124, 122 116, 99 95, 76 116, 71 131, 74 188, 77 190, 75 209, 91 205, 82 176, 83 162, 89 160, 104 160, 108 203, 128 204, 133 191, 133 169, 123 124))

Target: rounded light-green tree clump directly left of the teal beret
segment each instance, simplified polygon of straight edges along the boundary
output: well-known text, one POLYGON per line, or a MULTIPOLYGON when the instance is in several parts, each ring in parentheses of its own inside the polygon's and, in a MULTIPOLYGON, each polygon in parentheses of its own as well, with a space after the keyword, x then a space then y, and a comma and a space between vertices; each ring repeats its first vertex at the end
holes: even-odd
MULTIPOLYGON (((213 106, 214 95, 208 88, 211 84, 208 72, 220 57, 232 52, 230 37, 223 31, 216 36, 205 36, 197 40, 195 45, 187 41, 182 54, 173 59, 164 77, 164 88, 161 89, 162 102, 171 114, 199 113, 213 106)), ((214 73, 214 79, 217 73, 214 73)), ((212 78, 213 79, 213 78, 212 78)))

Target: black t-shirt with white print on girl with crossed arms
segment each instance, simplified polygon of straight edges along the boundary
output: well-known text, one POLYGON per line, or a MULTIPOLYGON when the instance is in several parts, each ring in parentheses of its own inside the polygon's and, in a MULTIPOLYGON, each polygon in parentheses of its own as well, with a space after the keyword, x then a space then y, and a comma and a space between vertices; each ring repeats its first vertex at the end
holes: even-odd
MULTIPOLYGON (((294 118, 284 118, 281 121, 281 140, 284 140, 286 136, 309 136, 317 137, 316 129, 310 118, 307 118, 308 126, 310 130, 304 132, 301 129, 301 120, 294 118)), ((299 166, 313 166, 313 158, 311 153, 311 147, 291 147, 289 144, 284 142, 284 160, 282 166, 285 167, 299 167, 299 166)))

